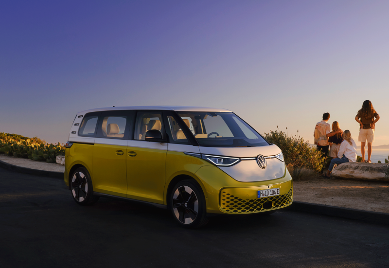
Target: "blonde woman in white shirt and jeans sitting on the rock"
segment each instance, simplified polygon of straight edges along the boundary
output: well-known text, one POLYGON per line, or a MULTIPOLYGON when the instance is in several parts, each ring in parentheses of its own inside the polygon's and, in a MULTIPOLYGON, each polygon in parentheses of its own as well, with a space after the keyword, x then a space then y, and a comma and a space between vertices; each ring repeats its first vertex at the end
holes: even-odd
POLYGON ((339 152, 337 153, 337 158, 331 160, 330 167, 328 168, 327 174, 324 174, 323 177, 330 178, 330 174, 334 169, 334 165, 340 165, 347 162, 356 162, 356 144, 351 138, 350 130, 345 130, 343 132, 343 142, 340 144, 339 152))

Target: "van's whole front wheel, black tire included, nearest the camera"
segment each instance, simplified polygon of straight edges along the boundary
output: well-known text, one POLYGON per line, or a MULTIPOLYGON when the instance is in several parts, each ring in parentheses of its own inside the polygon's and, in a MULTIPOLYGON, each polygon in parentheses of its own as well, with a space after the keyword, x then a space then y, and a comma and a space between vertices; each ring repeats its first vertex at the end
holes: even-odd
POLYGON ((170 210, 182 227, 196 229, 208 223, 204 193, 195 180, 181 180, 174 186, 170 210))

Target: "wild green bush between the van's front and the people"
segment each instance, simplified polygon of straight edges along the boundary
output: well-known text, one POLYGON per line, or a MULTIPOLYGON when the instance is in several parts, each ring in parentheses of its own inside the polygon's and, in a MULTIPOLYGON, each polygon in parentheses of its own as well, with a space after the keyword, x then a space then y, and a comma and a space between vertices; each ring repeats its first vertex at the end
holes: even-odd
POLYGON ((320 152, 305 142, 300 136, 288 137, 283 131, 265 133, 265 139, 280 147, 287 166, 321 171, 325 158, 320 152))

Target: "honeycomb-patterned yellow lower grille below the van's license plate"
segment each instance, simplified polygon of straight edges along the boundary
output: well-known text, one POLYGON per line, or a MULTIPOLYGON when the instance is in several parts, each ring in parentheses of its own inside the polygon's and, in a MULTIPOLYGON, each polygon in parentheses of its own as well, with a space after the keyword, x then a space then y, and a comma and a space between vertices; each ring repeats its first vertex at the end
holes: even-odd
POLYGON ((255 213, 285 207, 292 203, 292 189, 285 195, 274 197, 262 197, 257 199, 246 199, 233 196, 229 189, 223 189, 220 197, 220 208, 227 213, 255 213), (272 206, 270 203, 272 202, 272 206), (264 208, 264 203, 265 208, 264 208), (267 208, 270 204, 270 208, 267 208))

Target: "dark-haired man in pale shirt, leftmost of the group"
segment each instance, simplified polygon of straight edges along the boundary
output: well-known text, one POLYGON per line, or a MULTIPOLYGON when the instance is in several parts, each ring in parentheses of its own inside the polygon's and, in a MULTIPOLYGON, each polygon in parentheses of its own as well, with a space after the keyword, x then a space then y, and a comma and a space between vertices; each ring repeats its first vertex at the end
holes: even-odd
POLYGON ((338 130, 331 132, 331 125, 328 124, 328 120, 330 119, 330 113, 323 113, 323 120, 316 123, 315 126, 315 144, 317 145, 316 150, 321 152, 322 157, 327 158, 328 154, 328 138, 336 135, 342 130, 339 128, 338 130))

